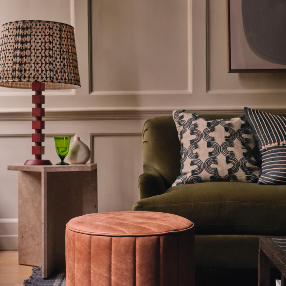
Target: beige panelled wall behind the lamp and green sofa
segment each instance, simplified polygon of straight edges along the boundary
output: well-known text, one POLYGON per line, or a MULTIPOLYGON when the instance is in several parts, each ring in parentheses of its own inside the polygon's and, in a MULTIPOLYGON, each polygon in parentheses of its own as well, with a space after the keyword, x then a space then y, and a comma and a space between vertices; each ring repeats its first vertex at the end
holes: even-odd
MULTIPOLYGON (((82 87, 45 91, 46 154, 52 134, 94 143, 100 212, 131 209, 142 172, 141 131, 150 116, 185 108, 281 113, 286 74, 227 74, 225 0, 91 0, 93 90, 88 91, 87 0, 0 0, 0 25, 43 19, 75 27, 82 87)), ((17 246, 17 173, 31 145, 31 92, 0 88, 0 248, 17 246)), ((31 198, 32 199, 32 198, 31 198)))

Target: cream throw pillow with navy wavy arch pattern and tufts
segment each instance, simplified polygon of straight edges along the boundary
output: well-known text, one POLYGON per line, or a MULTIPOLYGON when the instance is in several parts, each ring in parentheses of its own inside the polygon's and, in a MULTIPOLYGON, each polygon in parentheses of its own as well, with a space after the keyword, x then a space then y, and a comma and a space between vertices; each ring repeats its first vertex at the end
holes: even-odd
POLYGON ((260 174, 245 115, 209 120, 173 111, 181 142, 181 175, 172 186, 207 181, 257 182, 260 174))

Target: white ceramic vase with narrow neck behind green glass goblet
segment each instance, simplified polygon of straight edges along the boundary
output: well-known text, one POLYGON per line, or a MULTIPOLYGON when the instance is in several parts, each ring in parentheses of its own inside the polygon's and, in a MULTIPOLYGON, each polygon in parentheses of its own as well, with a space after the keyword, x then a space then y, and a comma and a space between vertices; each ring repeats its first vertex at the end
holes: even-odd
POLYGON ((90 158, 90 150, 86 144, 80 141, 77 134, 69 146, 67 161, 70 164, 85 164, 90 158))

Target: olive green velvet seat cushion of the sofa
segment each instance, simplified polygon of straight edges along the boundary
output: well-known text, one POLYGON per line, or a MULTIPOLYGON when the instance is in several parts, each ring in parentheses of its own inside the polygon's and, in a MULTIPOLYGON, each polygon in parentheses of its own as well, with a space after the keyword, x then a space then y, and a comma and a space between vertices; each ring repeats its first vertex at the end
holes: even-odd
POLYGON ((167 212, 195 224, 195 234, 286 235, 286 186, 205 182, 174 186, 133 210, 167 212))

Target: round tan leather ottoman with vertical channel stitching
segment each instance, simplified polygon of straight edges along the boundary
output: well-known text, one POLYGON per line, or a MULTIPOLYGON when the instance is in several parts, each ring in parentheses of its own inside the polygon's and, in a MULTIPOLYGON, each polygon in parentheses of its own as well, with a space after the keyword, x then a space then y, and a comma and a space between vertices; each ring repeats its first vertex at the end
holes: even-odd
POLYGON ((67 286, 193 286, 194 224, 177 215, 105 212, 66 224, 67 286))

